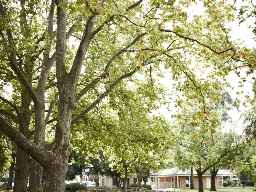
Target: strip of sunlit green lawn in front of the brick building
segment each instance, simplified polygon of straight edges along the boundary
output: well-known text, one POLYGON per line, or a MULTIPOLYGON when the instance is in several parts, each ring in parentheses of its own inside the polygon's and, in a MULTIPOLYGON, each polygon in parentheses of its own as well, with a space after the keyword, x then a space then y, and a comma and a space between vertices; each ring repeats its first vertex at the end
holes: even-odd
MULTIPOLYGON (((256 187, 245 187, 245 189, 243 189, 243 187, 227 187, 227 188, 217 188, 217 191, 219 192, 224 192, 224 191, 232 191, 232 192, 252 192, 253 189, 255 189, 256 187)), ((173 191, 173 190, 172 190, 173 191)), ((167 192, 171 192, 171 191, 167 191, 167 192)), ((176 190, 175 190, 176 192, 176 190)), ((177 192, 198 192, 198 189, 180 189, 177 190, 177 192)), ((204 189, 204 192, 210 192, 209 189, 204 189)))

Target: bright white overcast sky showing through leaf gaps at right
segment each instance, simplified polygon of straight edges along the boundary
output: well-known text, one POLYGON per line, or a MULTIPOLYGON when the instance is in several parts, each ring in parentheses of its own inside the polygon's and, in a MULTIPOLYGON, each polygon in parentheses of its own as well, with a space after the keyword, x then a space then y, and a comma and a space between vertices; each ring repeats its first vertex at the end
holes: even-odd
MULTIPOLYGON (((256 4, 256 0, 252 1, 253 4, 256 4)), ((194 3, 193 3, 194 4, 194 3)), ((202 14, 204 9, 202 8, 202 4, 203 1, 199 1, 198 4, 194 4, 193 7, 190 7, 190 9, 187 9, 187 15, 199 15, 202 14)), ((242 0, 238 0, 236 3, 236 8, 239 9, 241 6, 244 5, 244 2, 242 0)), ((191 20, 192 18, 188 17, 188 20, 191 20)), ((239 25, 239 21, 235 20, 232 23, 229 23, 228 25, 231 26, 232 31, 230 33, 231 35, 231 40, 236 40, 238 41, 238 39, 241 39, 241 41, 244 41, 244 46, 246 46, 247 48, 256 48, 256 44, 255 41, 253 39, 254 34, 252 33, 252 30, 249 29, 247 26, 249 24, 254 23, 254 19, 255 18, 250 18, 247 19, 246 22, 241 23, 239 25)), ((245 70, 244 70, 245 71, 245 70)), ((245 73, 244 71, 241 72, 241 74, 244 74, 245 77, 245 73)), ((241 75, 243 76, 243 75, 241 75)), ((244 83, 244 87, 239 88, 238 87, 238 82, 240 81, 239 77, 231 72, 229 73, 228 77, 227 77, 227 81, 230 83, 231 87, 234 87, 234 89, 227 89, 228 92, 230 92, 231 97, 233 99, 240 99, 240 100, 244 100, 244 95, 250 95, 252 97, 252 76, 255 76, 255 74, 251 75, 249 78, 247 78, 247 82, 244 83), (241 92, 244 91, 243 95, 237 95, 236 92, 241 92)), ((160 80, 160 82, 162 84, 164 84, 164 86, 168 89, 171 88, 171 84, 170 83, 171 77, 166 75, 163 79, 160 80)), ((241 102, 242 103, 242 102, 241 102)), ((225 128, 223 129, 223 131, 225 132, 229 132, 230 130, 232 131, 236 131, 237 133, 241 134, 242 133, 242 129, 243 129, 243 118, 241 117, 241 114, 244 113, 244 110, 246 108, 244 106, 240 106, 239 107, 239 111, 237 109, 233 109, 232 111, 229 112, 229 115, 232 117, 233 120, 233 124, 227 124, 225 126, 225 128), (241 118, 240 118, 241 117, 241 118)), ((171 115, 174 114, 176 112, 175 107, 172 108, 172 111, 168 111, 166 106, 162 106, 159 110, 156 111, 156 113, 162 114, 164 117, 166 117, 168 120, 171 120, 171 115)))

